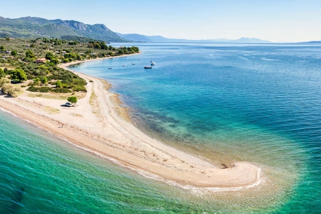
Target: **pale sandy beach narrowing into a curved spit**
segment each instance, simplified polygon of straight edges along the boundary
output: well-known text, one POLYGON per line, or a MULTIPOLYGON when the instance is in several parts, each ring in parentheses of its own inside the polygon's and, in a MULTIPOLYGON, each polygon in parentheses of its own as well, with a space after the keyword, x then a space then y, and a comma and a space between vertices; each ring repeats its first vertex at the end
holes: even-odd
MULTIPOLYGON (((104 58, 94 60, 99 59, 104 58)), ((67 66, 81 62, 84 61, 60 66, 68 69, 67 66)), ((126 109, 119 106, 117 94, 108 91, 106 81, 76 74, 88 83, 87 94, 76 107, 62 106, 66 102, 62 99, 30 97, 32 92, 28 91, 17 98, 0 96, 0 107, 56 136, 113 158, 124 167, 169 184, 227 191, 260 184, 261 170, 252 163, 235 162, 222 168, 219 163, 151 138, 128 121, 126 109)))

